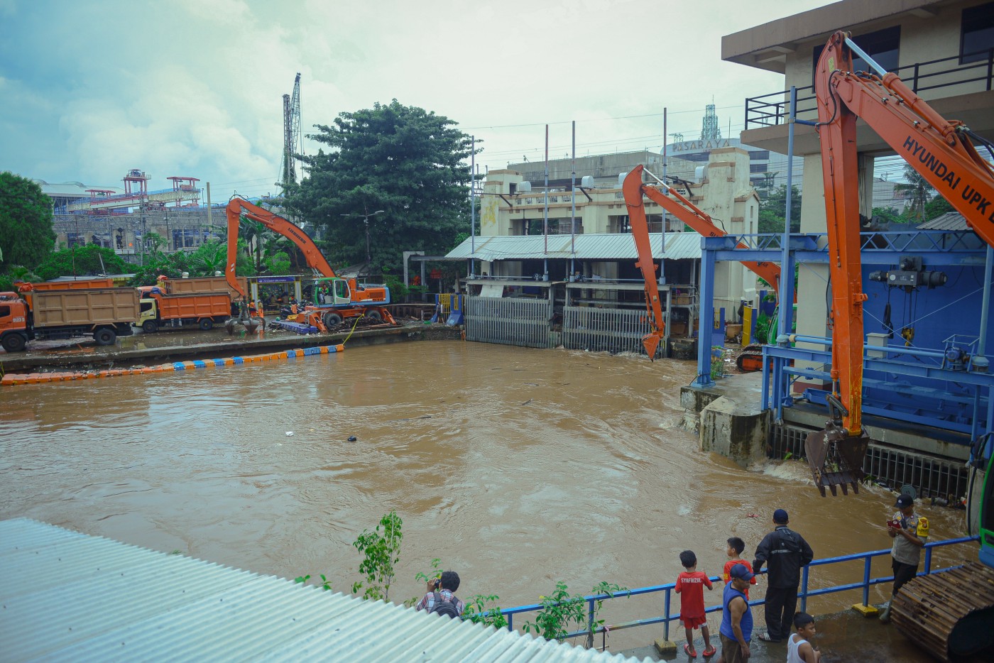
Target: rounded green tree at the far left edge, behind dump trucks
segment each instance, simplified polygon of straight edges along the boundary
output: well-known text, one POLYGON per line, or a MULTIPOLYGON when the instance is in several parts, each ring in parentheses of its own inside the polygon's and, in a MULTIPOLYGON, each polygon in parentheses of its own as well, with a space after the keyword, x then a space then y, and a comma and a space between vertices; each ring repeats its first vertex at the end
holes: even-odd
POLYGON ((0 270, 12 264, 34 268, 55 244, 52 200, 28 178, 0 173, 0 270))

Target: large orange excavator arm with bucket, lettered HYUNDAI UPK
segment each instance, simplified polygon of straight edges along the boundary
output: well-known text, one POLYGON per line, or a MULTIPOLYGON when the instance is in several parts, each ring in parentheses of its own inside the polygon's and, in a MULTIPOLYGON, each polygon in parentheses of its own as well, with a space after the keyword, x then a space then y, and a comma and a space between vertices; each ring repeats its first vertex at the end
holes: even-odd
POLYGON ((847 484, 858 491, 869 436, 862 425, 863 292, 856 120, 880 137, 963 215, 967 225, 994 245, 994 169, 974 141, 986 139, 959 121, 945 120, 893 73, 837 32, 828 40, 815 72, 821 163, 828 222, 832 283, 832 393, 830 419, 805 440, 815 484, 836 494, 847 484), (853 72, 853 54, 875 73, 853 72))

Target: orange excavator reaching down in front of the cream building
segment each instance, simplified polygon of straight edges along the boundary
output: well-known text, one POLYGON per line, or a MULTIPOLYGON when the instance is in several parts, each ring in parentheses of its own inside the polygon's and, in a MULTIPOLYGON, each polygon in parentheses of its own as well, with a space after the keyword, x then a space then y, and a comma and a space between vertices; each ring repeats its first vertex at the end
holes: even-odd
MULTIPOLYGON (((642 197, 653 201, 674 217, 687 224, 702 236, 707 238, 722 238, 728 235, 715 225, 709 214, 698 208, 684 197, 679 191, 668 186, 652 173, 658 185, 642 183, 642 173, 648 172, 642 165, 636 166, 628 173, 621 185, 625 206, 628 208, 628 222, 631 224, 631 235, 635 239, 638 250, 638 262, 635 266, 641 269, 645 280, 645 307, 648 313, 650 331, 642 338, 642 345, 649 357, 655 357, 656 348, 665 336, 665 322, 662 307, 659 302, 659 288, 656 285, 656 265, 652 261, 652 248, 649 245, 649 224, 645 218, 645 206, 642 197), (672 196, 672 198, 671 198, 672 196)), ((747 249, 740 242, 739 248, 747 249)), ((780 287, 780 265, 775 262, 758 262, 743 260, 743 264, 769 283, 774 291, 780 287)), ((757 345, 746 346, 739 358, 739 368, 744 371, 758 371, 762 368, 762 349, 757 345)))

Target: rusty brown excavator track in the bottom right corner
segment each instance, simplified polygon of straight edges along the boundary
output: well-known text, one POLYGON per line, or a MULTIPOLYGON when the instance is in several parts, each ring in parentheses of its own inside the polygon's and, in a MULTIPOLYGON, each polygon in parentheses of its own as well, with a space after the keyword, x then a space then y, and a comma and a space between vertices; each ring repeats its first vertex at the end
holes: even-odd
POLYGON ((909 581, 894 597, 891 621, 940 661, 994 647, 994 569, 972 562, 909 581))

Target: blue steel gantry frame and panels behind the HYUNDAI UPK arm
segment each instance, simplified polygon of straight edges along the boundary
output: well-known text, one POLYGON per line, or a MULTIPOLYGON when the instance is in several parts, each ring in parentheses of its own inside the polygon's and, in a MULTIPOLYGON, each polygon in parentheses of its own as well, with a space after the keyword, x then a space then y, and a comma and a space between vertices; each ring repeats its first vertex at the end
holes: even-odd
MULTIPOLYGON (((710 340, 711 321, 714 320, 715 315, 713 303, 715 263, 718 260, 780 262, 785 259, 787 264, 781 264, 781 273, 788 278, 784 278, 784 282, 781 283, 782 301, 790 301, 793 298, 792 276, 795 264, 828 261, 825 235, 791 235, 786 250, 783 250, 783 237, 783 235, 751 235, 701 239, 702 324, 698 339, 698 376, 692 387, 714 386, 711 378, 710 340), (739 243, 744 243, 749 249, 736 249, 739 243)), ((894 265, 899 264, 902 256, 912 254, 921 256, 929 269, 950 271, 970 269, 974 274, 980 271, 984 274, 985 281, 981 284, 983 301, 989 301, 990 251, 972 232, 911 230, 898 233, 864 233, 861 237, 864 265, 878 269, 893 268, 894 265), (983 269, 985 265, 986 271, 983 269)), ((887 288, 886 284, 881 284, 877 289, 883 295, 887 288)), ((869 355, 866 353, 864 355, 864 370, 871 377, 864 386, 867 396, 863 412, 966 432, 970 433, 971 439, 976 439, 978 435, 989 432, 994 421, 994 412, 992 412, 994 398, 991 398, 994 374, 986 370, 986 358, 982 356, 986 344, 980 341, 986 339, 988 334, 986 318, 977 311, 967 312, 963 307, 955 308, 958 300, 949 297, 947 288, 948 286, 940 286, 933 290, 932 303, 935 303, 937 298, 943 302, 943 308, 952 307, 951 311, 943 317, 930 321, 932 327, 930 339, 933 342, 936 339, 939 342, 945 340, 945 347, 909 346, 900 335, 897 335, 900 345, 888 343, 883 347, 866 347, 869 355), (950 318, 950 313, 955 318, 950 318), (950 319, 956 319, 962 330, 961 321, 969 318, 980 320, 972 341, 968 338, 962 343, 956 341, 955 338, 960 335, 953 335, 948 339, 936 336, 937 333, 951 326, 950 319), (879 379, 874 380, 873 376, 878 376, 879 379)), ((764 346, 763 410, 772 410, 775 419, 781 421, 783 408, 792 405, 791 384, 796 378, 810 378, 830 384, 831 342, 828 338, 781 333, 775 345, 764 346), (809 346, 820 345, 821 348, 797 348, 793 347, 795 342, 809 346), (824 370, 795 366, 794 364, 798 362, 822 365, 824 370)), ((824 403, 824 394, 825 392, 821 390, 812 389, 806 395, 813 403, 824 403)))

